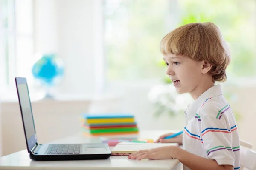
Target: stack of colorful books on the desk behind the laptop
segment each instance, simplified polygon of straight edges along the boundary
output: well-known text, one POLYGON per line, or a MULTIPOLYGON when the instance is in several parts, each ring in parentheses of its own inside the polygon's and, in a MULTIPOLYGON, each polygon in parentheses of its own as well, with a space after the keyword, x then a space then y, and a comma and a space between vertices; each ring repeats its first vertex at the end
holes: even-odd
POLYGON ((139 129, 130 114, 83 114, 82 130, 89 136, 137 135, 139 129))

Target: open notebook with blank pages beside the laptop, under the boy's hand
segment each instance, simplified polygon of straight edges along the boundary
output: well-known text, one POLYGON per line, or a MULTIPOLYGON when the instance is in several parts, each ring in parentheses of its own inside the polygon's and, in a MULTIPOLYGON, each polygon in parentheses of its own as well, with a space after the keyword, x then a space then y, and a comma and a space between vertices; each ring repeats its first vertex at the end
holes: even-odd
POLYGON ((136 142, 121 142, 117 144, 112 150, 112 156, 130 155, 139 150, 154 149, 163 146, 178 146, 177 143, 136 143, 136 142))

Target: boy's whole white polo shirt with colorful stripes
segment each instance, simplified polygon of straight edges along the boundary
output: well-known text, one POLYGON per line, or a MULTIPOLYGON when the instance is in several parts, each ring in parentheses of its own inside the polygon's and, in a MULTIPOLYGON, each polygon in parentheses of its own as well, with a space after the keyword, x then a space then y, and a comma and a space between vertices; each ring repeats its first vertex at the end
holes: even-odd
MULTIPOLYGON (((221 85, 209 88, 188 106, 183 148, 195 155, 214 159, 219 165, 240 169, 239 132, 221 85)), ((183 170, 189 168, 184 165, 183 170)))

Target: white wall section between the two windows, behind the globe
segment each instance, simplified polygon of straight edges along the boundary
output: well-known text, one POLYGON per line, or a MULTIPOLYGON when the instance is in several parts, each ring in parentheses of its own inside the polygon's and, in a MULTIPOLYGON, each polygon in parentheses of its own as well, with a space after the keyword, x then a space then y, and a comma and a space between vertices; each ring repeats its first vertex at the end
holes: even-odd
MULTIPOLYGON (((35 0, 35 52, 57 52, 65 64, 59 94, 95 90, 93 0, 35 0)), ((99 30, 100 31, 100 30, 99 30)))

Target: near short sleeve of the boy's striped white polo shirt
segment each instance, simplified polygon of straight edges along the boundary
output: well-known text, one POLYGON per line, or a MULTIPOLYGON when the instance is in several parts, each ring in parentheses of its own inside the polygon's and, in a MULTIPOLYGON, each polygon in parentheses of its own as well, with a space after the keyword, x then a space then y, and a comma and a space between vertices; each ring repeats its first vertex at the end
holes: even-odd
MULTIPOLYGON (((208 113, 215 112, 215 109, 207 110, 208 113)), ((217 161, 219 165, 234 167, 235 154, 232 149, 230 130, 225 122, 208 113, 201 114, 201 134, 205 153, 209 159, 217 161)))

